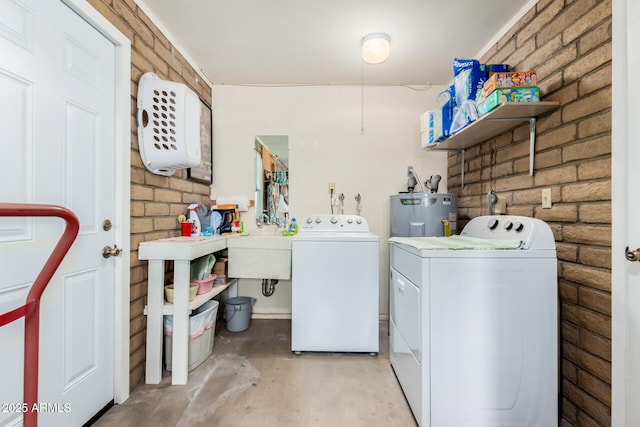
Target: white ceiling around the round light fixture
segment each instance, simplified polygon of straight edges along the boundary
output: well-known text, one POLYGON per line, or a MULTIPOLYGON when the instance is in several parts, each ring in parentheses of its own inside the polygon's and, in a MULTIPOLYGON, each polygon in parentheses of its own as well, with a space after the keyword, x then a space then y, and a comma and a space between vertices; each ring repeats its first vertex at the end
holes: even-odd
POLYGON ((137 0, 213 84, 445 85, 536 0, 137 0), (390 58, 361 60, 384 32, 390 58))

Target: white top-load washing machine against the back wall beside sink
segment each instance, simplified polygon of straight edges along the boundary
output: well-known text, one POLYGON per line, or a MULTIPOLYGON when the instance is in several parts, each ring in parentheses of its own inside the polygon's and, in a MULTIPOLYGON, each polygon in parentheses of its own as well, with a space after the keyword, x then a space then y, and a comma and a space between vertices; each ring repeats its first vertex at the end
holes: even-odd
POLYGON ((311 215, 291 241, 291 350, 379 350, 380 239, 356 215, 311 215))

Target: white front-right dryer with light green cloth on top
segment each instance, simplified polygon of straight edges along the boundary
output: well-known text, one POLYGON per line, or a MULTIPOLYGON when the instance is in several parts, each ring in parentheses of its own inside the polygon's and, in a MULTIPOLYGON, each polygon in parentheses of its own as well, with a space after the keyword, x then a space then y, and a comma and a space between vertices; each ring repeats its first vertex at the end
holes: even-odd
POLYGON ((418 424, 558 425, 556 247, 534 218, 394 237, 390 359, 418 424))

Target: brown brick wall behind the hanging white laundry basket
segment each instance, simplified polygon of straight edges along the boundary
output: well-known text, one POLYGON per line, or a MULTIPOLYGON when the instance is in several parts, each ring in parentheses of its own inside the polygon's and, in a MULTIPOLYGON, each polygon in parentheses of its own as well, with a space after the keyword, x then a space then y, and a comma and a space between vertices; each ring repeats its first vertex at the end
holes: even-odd
MULTIPOLYGON (((134 0, 88 0, 131 41, 131 323, 130 388, 144 376, 146 318, 142 313, 147 294, 147 263, 138 260, 138 244, 179 235, 176 217, 192 201, 209 206, 208 185, 187 179, 187 171, 172 177, 147 171, 138 151, 136 95, 142 74, 152 71, 163 80, 184 83, 211 105, 211 88, 171 45, 134 0)), ((170 273, 171 266, 167 268, 170 273)))

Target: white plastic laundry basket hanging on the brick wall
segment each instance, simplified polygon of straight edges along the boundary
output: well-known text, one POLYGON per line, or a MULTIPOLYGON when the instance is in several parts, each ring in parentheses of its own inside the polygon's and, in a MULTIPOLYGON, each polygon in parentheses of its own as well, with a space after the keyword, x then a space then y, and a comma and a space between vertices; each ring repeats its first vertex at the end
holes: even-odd
POLYGON ((157 175, 200 164, 200 99, 182 83, 145 73, 138 83, 138 145, 142 163, 157 175))

